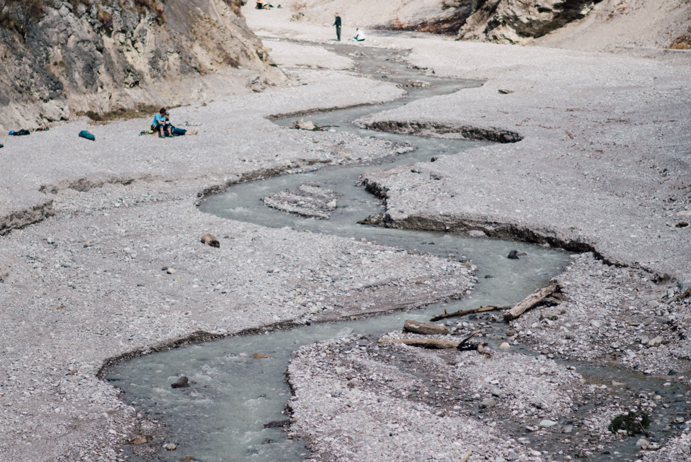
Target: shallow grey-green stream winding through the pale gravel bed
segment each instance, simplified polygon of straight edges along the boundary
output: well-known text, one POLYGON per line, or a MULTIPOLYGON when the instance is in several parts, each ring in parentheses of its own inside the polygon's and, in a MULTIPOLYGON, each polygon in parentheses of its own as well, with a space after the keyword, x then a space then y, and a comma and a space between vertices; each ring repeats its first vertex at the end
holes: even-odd
MULTIPOLYGON (((352 50, 347 46, 334 47, 352 50)), ((386 79, 407 85, 423 80, 430 86, 406 87, 409 94, 401 100, 368 107, 319 113, 305 118, 317 125, 338 125, 338 130, 362 137, 386 138, 397 143, 412 143, 417 148, 409 154, 388 159, 390 165, 429 161, 432 156, 462 155, 464 149, 480 142, 399 136, 360 129, 350 121, 381 110, 392 109, 413 99, 443 95, 479 82, 444 80, 421 75, 408 68, 395 50, 376 50, 358 47, 358 71, 373 78, 386 79)), ((295 118, 276 120, 288 126, 295 118)), ((479 283, 473 293, 463 299, 446 304, 435 304, 425 309, 370 317, 348 322, 321 323, 299 328, 274 331, 260 335, 240 335, 214 342, 195 344, 164 353, 136 358, 118 364, 106 373, 106 380, 122 389, 123 399, 140 412, 162 421, 167 426, 168 439, 179 445, 178 450, 158 457, 165 460, 183 460, 191 456, 196 461, 301 461, 309 455, 304 441, 288 436, 281 427, 287 416, 286 403, 290 389, 285 382, 285 371, 292 351, 304 344, 355 334, 368 334, 374 338, 381 333, 401 329, 406 319, 427 321, 430 317, 448 312, 477 308, 480 305, 511 305, 520 301, 559 272, 569 261, 565 252, 531 246, 524 243, 491 239, 473 239, 453 234, 375 228, 359 225, 357 221, 384 210, 384 205, 358 186, 359 176, 367 169, 381 168, 380 163, 363 163, 345 167, 325 167, 303 174, 278 176, 231 187, 223 194, 207 199, 201 210, 227 219, 249 221, 274 228, 285 226, 309 229, 313 232, 337 234, 352 239, 366 239, 392 248, 427 252, 447 258, 449 254, 467 257, 478 268, 479 283), (261 198, 303 184, 319 184, 341 194, 339 207, 330 220, 306 219, 294 214, 266 207, 261 198), (518 260, 507 259, 511 250, 527 253, 518 260), (254 353, 270 358, 252 358, 254 353), (171 383, 187 376, 192 386, 172 389, 171 383), (281 425, 278 425, 281 423, 281 425), (269 424, 269 425, 267 425, 269 424)), ((477 317, 487 320, 487 317, 477 317)), ((452 320, 452 325, 458 320, 452 320)), ((464 320, 475 322, 473 320, 464 320)), ((497 324, 496 335, 490 335, 491 347, 499 338, 505 324, 497 324), (495 340, 493 340, 495 338, 495 340)), ((534 354, 526 351, 528 354, 534 354)), ((601 370, 575 364, 579 371, 598 382, 612 380, 614 369, 601 370)), ((645 380, 636 376, 636 380, 645 380)), ((647 383, 648 388, 659 385, 647 383)), ((643 387, 643 383, 641 383, 643 387)), ((652 389, 651 389, 652 392, 652 389)), ((670 399, 674 391, 668 390, 670 399)), ((682 395, 683 396, 683 395, 682 395)), ((683 401, 684 398, 676 397, 683 401)), ((681 403, 680 401, 680 403, 681 403)), ((635 441, 635 440, 634 440, 635 441)), ((151 444, 153 444, 152 442, 151 444)), ((160 445, 164 442, 155 442, 160 445)), ((621 451, 635 451, 625 442, 621 451)), ((129 452, 129 450, 128 450, 129 452)), ((138 459, 132 453, 131 460, 138 459)), ((615 459, 598 454, 589 460, 634 460, 632 456, 615 459)))

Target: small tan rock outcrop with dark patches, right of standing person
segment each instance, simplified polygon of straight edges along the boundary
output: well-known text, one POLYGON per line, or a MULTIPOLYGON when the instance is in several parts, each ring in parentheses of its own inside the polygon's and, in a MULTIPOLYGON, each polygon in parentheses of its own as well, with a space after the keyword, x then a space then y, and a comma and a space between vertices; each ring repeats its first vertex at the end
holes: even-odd
POLYGON ((466 40, 527 44, 583 19, 601 0, 476 0, 475 12, 459 30, 466 40))

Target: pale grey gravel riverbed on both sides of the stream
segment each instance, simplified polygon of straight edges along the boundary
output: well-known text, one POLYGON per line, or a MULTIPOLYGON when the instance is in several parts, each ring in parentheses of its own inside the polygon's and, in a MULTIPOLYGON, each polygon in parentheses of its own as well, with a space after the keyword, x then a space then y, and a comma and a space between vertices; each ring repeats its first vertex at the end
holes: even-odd
MULTIPOLYGON (((249 24, 262 13, 248 11, 249 24)), ((88 127, 95 143, 76 137, 86 120, 2 138, 3 460, 118 460, 122 443, 160 426, 100 380, 111 358, 199 331, 214 338, 299 320, 326 298, 347 315, 363 300, 385 311, 421 306, 473 284, 466 266, 433 255, 196 209, 200 196, 232 183, 398 149, 269 122, 403 90, 352 75, 348 57, 263 34, 274 37, 265 46, 290 86, 172 112, 200 136, 139 137, 147 118, 88 127), (200 243, 207 232, 220 248, 200 243)), ((509 326, 491 316, 448 323, 455 341, 484 324, 482 355, 357 335, 303 347, 289 369, 290 432, 310 441, 315 460, 622 460, 612 444, 634 446, 638 436, 607 425, 635 406, 665 421, 626 457, 688 460, 688 54, 439 37, 378 36, 375 44, 412 50, 410 64, 435 75, 486 83, 359 123, 428 136, 464 127, 522 136, 366 174, 386 198, 383 223, 567 248, 574 257, 557 278, 565 300, 509 326), (574 360, 585 366, 574 369, 574 360), (611 380, 588 373, 602 365, 622 372, 611 380), (675 414, 661 411, 668 408, 675 414)))

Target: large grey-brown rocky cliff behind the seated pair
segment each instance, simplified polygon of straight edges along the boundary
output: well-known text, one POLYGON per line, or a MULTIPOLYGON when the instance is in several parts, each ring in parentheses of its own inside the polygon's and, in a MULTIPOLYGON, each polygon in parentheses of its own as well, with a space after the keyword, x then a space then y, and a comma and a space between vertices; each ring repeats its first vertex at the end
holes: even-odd
POLYGON ((53 0, 0 22, 0 130, 182 104, 281 79, 243 0, 53 0), (20 24, 21 26, 21 24, 20 24))

